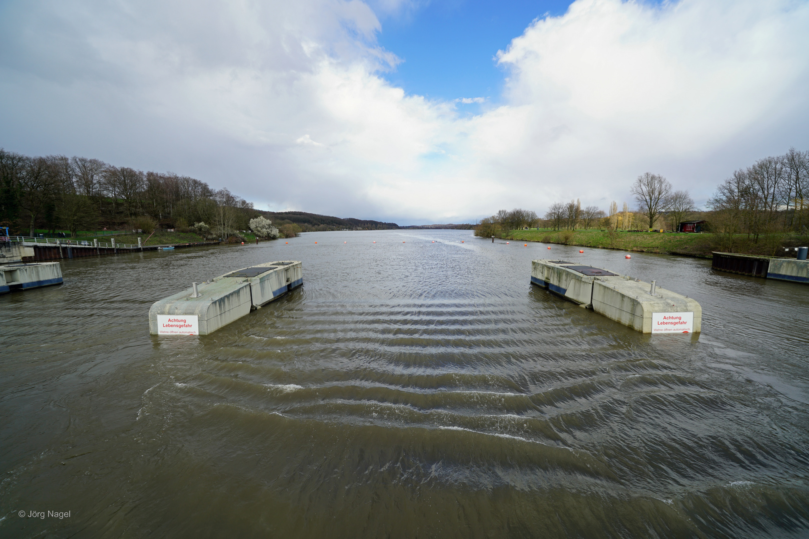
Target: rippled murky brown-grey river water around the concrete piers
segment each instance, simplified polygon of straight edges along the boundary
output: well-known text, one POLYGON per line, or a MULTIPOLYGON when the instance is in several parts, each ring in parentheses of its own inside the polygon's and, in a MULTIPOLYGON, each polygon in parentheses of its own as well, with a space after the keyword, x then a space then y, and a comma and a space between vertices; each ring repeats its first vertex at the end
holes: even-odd
POLYGON ((806 286, 460 230, 286 241, 0 297, 0 537, 809 536, 806 286), (549 256, 696 298, 701 335, 553 297, 549 256), (152 302, 277 259, 303 287, 149 335, 152 302))

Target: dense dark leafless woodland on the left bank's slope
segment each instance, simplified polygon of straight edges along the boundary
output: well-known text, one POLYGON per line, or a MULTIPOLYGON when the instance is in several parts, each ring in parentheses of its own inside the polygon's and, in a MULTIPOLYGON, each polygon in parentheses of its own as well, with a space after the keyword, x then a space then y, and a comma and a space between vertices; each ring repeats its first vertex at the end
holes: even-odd
POLYGON ((99 159, 29 157, 0 149, 0 221, 12 229, 187 229, 206 222, 219 235, 247 229, 253 204, 198 179, 114 166, 99 159), (144 228, 136 226, 136 228, 144 228))

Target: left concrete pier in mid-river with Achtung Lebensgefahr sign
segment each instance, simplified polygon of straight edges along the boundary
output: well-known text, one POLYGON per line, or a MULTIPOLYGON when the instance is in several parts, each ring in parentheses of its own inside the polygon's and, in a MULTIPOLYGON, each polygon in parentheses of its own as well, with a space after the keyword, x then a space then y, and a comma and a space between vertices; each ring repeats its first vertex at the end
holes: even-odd
POLYGON ((298 260, 243 267, 155 301, 149 310, 149 332, 208 335, 301 284, 303 264, 298 260))

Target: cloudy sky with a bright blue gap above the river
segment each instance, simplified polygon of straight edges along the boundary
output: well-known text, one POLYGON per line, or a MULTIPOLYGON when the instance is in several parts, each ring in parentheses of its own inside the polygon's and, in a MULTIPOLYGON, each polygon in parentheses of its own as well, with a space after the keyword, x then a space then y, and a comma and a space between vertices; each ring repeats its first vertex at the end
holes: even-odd
POLYGON ((400 224, 809 149, 809 2, 0 0, 0 147, 400 224), (504 6, 503 4, 508 4, 504 6))

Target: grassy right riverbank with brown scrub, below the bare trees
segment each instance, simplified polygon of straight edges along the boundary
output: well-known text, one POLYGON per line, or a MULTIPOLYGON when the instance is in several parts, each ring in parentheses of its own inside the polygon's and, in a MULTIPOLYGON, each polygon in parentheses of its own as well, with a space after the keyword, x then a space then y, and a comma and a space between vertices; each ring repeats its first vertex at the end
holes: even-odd
MULTIPOLYGON (((502 236, 528 242, 560 243, 583 247, 602 247, 643 253, 667 253, 710 258, 712 251, 749 255, 784 256, 782 247, 798 246, 806 237, 795 234, 769 234, 754 242, 746 234, 728 238, 727 234, 677 234, 626 232, 614 230, 512 230, 502 236)), ((801 245, 803 245, 802 243, 801 245)), ((794 254, 793 254, 794 255, 794 254)), ((790 254, 786 254, 790 256, 790 254)))

